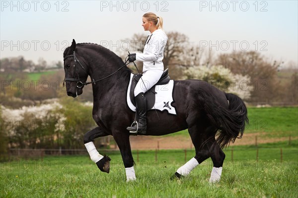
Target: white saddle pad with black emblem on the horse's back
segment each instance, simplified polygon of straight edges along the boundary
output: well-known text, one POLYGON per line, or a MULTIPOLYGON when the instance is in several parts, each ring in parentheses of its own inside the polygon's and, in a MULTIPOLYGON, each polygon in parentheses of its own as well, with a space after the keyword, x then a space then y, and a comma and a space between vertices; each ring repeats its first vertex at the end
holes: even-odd
MULTIPOLYGON (((128 90, 127 90, 127 104, 129 108, 133 111, 136 111, 136 106, 131 102, 129 93, 132 84, 132 78, 134 74, 131 74, 128 90)), ((171 104, 173 100, 173 87, 174 87, 174 80, 170 80, 170 82, 166 85, 156 85, 155 86, 155 103, 151 109, 157 109, 160 111, 167 110, 169 114, 177 115, 176 109, 171 104)), ((150 110, 151 110, 150 109, 150 110)))

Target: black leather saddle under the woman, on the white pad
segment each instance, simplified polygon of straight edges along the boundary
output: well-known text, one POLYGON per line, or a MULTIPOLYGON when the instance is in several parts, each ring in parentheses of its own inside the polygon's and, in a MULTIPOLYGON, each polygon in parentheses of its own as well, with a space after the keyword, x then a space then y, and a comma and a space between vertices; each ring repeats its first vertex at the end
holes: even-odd
MULTIPOLYGON (((141 79, 142 76, 143 76, 142 74, 135 74, 133 76, 132 82, 131 82, 129 96, 130 96, 132 103, 135 106, 136 106, 136 101, 135 101, 134 91, 137 86, 137 83, 139 82, 139 80, 141 79)), ((155 86, 156 85, 166 85, 169 83, 169 81, 170 81, 169 72, 168 72, 168 69, 165 69, 164 72, 162 73, 160 79, 158 80, 158 82, 144 94, 144 96, 146 97, 146 100, 147 100, 147 110, 151 109, 155 103, 155 94, 157 94, 155 92, 155 86)))

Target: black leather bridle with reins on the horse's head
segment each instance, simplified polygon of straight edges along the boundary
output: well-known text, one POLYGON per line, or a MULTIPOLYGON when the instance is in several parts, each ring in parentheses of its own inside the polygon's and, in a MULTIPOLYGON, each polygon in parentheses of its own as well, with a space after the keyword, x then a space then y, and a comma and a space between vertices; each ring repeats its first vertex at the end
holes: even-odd
MULTIPOLYGON (((76 62, 78 62, 78 64, 81 66, 81 68, 82 68, 86 73, 87 73, 87 71, 85 70, 85 68, 83 67, 83 65, 80 63, 80 61, 77 59, 77 57, 75 56, 75 52, 74 52, 73 54, 71 54, 71 55, 67 55, 67 56, 65 56, 64 61, 65 61, 67 58, 69 58, 69 57, 74 57, 74 67, 75 67, 75 73, 77 74, 77 79, 74 78, 75 76, 74 76, 73 78, 67 78, 67 77, 65 76, 64 82, 66 82, 66 81, 76 82, 76 87, 77 87, 77 88, 82 88, 82 87, 85 86, 85 85, 88 85, 88 84, 91 84, 91 83, 95 83, 95 82, 104 80, 104 79, 106 79, 106 78, 112 76, 113 74, 115 74, 115 73, 118 72, 120 69, 122 69, 123 67, 127 66, 127 65, 130 63, 128 60, 126 60, 126 61, 125 61, 125 64, 124 64, 122 67, 120 67, 119 69, 117 69, 115 72, 113 72, 112 74, 110 74, 110 75, 108 75, 108 76, 106 76, 106 77, 104 77, 104 78, 101 78, 101 79, 99 79, 99 80, 94 80, 94 79, 93 79, 93 81, 90 81, 90 82, 83 82, 83 81, 81 81, 81 80, 79 79, 79 75, 78 75, 78 67, 76 66, 76 62)), ((65 72, 65 75, 66 75, 66 72, 65 72)), ((63 82, 63 85, 64 85, 64 82, 63 82)))

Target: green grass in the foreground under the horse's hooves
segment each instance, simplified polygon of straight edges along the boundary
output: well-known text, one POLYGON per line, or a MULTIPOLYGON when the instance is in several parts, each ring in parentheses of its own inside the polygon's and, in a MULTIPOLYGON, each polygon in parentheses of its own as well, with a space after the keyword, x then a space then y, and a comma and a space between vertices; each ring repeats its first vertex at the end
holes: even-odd
MULTIPOLYGON (((298 141, 274 143, 256 148, 233 147, 225 151, 222 180, 209 184, 210 159, 181 180, 173 173, 184 164, 184 150, 140 151, 136 161, 137 181, 126 182, 120 152, 111 152, 111 171, 100 172, 89 156, 47 156, 0 164, 0 197, 273 197, 297 198, 298 141), (283 148, 283 161, 280 160, 283 148)), ((187 150, 187 160, 194 150, 187 150)))

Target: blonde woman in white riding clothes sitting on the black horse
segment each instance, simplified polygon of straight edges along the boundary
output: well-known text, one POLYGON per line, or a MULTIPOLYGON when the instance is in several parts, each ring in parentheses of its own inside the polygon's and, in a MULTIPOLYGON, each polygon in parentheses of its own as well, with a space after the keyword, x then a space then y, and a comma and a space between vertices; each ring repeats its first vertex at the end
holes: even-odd
POLYGON ((129 55, 129 61, 143 61, 143 76, 139 80, 134 91, 136 107, 138 113, 138 124, 127 127, 131 133, 146 134, 147 104, 144 93, 153 87, 163 73, 163 50, 167 42, 167 36, 162 30, 162 18, 149 12, 143 15, 145 31, 151 34, 147 37, 143 53, 133 53, 129 55))

